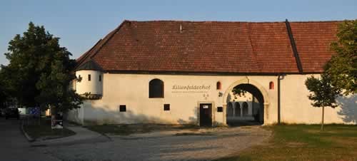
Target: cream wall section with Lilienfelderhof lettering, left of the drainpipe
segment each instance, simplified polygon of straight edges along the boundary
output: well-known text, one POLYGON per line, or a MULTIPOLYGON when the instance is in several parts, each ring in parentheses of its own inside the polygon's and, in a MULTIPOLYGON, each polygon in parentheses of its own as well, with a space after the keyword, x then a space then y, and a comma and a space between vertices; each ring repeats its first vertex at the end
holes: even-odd
MULTIPOLYGON (((79 73, 77 73, 78 75, 79 73)), ((87 74, 87 73, 85 73, 87 74)), ((81 73, 81 76, 86 76, 81 73)), ((82 77, 83 77, 82 76, 82 77)), ((225 93, 229 85, 246 76, 181 76, 146 74, 104 73, 103 97, 100 100, 86 100, 84 122, 86 123, 197 123, 199 103, 213 103, 213 121, 225 123, 225 113, 216 112, 226 101, 218 97, 225 93), (149 98, 149 81, 159 78, 164 81, 164 98, 149 98), (221 81, 221 90, 216 90, 216 82, 221 81), (209 90, 174 90, 174 85, 206 85, 209 90), (170 110, 164 111, 164 104, 170 110), (126 105, 126 112, 119 112, 119 105, 126 105)), ((276 76, 249 76, 268 90, 268 83, 276 76)), ((93 78, 92 78, 93 79, 93 78)), ((83 77, 82 81, 85 81, 83 77)), ((83 82, 81 82, 83 83, 83 82)), ((83 85, 83 84, 82 84, 83 85)), ((79 85, 77 85, 77 89, 79 85)), ((81 87, 81 89, 84 89, 81 87)), ((81 92, 83 90, 79 90, 81 92)), ((271 95, 273 110, 276 97, 271 95)), ((271 112, 272 113, 272 112, 271 112)), ((273 113, 271 115, 274 115, 273 113)), ((271 117, 275 119, 274 117, 271 117)), ((267 123, 276 120, 266 120, 267 123)))

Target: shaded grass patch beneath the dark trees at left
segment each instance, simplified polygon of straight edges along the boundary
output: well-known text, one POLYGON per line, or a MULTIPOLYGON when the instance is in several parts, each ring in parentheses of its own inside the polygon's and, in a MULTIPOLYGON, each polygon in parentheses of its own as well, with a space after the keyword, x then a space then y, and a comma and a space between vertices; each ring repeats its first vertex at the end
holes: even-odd
POLYGON ((34 123, 30 125, 24 125, 25 132, 34 139, 56 139, 59 137, 68 137, 75 135, 73 131, 63 128, 63 129, 51 129, 51 120, 41 119, 41 123, 38 124, 38 121, 35 120, 34 123))

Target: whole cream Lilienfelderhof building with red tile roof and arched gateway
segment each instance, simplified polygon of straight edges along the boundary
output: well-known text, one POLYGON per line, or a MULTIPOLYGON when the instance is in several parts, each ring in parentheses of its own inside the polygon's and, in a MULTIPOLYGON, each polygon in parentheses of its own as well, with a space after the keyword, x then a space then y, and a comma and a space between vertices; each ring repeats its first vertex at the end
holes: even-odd
MULTIPOLYGON (((77 59, 81 124, 320 123, 304 82, 333 54, 339 21, 124 21, 77 59), (233 94, 233 88, 246 91, 233 94)), ((356 95, 326 123, 356 124, 356 95)))

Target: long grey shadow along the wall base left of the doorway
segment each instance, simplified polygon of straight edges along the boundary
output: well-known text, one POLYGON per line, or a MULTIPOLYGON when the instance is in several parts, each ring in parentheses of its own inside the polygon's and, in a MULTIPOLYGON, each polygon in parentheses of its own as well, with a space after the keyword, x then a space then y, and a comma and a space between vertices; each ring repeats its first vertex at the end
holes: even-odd
MULTIPOLYGON (((161 113, 156 116, 136 114, 130 110, 130 107, 126 108, 126 112, 120 112, 119 107, 115 110, 109 108, 109 106, 95 107, 84 105, 84 125, 103 125, 103 124, 135 124, 135 123, 155 123, 155 124, 197 124, 197 118, 178 118, 177 120, 165 119, 168 117, 169 113, 161 113), (161 115, 166 115, 161 118, 161 115)), ((156 109, 158 110, 158 109, 156 109)), ((79 115, 76 111, 71 111, 69 113, 69 120, 75 121, 76 123, 81 123, 80 120, 73 120, 73 118, 78 118, 79 115)), ((158 111, 159 112, 159 111, 158 111)), ((194 109, 196 113, 196 108, 194 109)))

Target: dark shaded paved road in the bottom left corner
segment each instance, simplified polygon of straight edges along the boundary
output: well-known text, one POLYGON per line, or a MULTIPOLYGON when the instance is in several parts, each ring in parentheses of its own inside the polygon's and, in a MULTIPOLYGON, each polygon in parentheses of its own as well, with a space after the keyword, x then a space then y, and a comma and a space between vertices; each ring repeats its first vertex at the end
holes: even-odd
POLYGON ((0 118, 0 160, 59 160, 31 147, 21 133, 20 122, 0 118))

